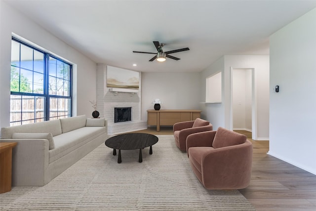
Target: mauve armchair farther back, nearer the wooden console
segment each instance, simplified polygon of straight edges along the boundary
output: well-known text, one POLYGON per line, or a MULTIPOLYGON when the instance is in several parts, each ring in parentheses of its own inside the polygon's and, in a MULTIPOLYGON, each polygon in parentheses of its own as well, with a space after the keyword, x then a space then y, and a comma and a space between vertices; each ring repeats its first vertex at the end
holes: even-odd
POLYGON ((206 120, 197 118, 195 121, 180 122, 173 125, 173 136, 180 150, 187 150, 186 139, 192 133, 210 131, 212 124, 206 120))

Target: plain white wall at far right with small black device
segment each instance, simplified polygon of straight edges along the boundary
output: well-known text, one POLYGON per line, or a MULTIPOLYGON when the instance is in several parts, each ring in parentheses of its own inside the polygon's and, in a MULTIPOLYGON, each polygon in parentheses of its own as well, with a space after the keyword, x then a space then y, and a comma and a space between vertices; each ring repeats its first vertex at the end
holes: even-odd
POLYGON ((316 174, 316 9, 270 37, 270 56, 269 154, 316 174))

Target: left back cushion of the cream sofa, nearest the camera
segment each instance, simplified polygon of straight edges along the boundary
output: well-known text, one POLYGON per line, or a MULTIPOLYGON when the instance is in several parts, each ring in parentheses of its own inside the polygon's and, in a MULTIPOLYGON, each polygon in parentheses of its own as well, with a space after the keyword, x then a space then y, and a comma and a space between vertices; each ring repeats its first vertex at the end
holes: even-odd
POLYGON ((2 127, 1 138, 12 138, 14 132, 18 133, 51 133, 53 136, 61 134, 59 120, 50 120, 20 126, 2 127))

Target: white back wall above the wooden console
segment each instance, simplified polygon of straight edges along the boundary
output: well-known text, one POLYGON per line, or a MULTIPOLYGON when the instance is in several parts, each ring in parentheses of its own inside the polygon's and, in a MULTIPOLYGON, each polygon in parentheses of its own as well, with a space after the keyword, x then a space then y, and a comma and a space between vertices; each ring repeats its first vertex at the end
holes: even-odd
POLYGON ((160 109, 199 109, 199 73, 142 73, 142 120, 152 102, 162 101, 160 109))

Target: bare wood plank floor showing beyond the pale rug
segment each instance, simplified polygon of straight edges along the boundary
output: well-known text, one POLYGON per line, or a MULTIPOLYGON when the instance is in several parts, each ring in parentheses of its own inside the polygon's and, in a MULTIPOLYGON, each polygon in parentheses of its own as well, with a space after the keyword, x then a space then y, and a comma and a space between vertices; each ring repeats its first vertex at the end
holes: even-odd
MULTIPOLYGON (((172 127, 156 127, 135 132, 171 135, 172 127)), ((269 141, 254 141, 250 185, 239 192, 257 211, 316 211, 316 175, 267 154, 269 141)), ((286 146, 284 146, 286 147, 286 146)))

